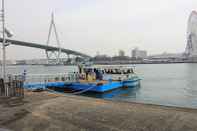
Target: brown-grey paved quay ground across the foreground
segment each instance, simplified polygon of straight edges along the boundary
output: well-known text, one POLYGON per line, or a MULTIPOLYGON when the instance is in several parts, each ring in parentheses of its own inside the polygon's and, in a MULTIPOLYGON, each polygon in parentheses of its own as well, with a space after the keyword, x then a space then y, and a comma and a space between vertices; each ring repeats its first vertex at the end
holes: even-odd
POLYGON ((0 131, 197 131, 197 110, 47 92, 0 98, 0 131))

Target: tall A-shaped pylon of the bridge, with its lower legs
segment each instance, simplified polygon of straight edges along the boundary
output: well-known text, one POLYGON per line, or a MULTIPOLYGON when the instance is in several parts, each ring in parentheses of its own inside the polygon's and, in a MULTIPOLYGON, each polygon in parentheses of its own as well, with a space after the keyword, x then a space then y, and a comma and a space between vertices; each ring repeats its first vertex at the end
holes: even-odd
POLYGON ((59 49, 58 49, 58 51, 57 50, 48 50, 48 49, 45 50, 46 57, 47 57, 47 62, 48 62, 48 64, 51 64, 51 63, 52 64, 61 64, 61 59, 60 59, 61 44, 60 44, 60 41, 59 41, 59 36, 58 36, 58 33, 57 33, 53 13, 51 15, 51 23, 50 23, 49 34, 48 34, 48 38, 47 38, 47 46, 49 46, 49 43, 50 43, 50 37, 51 37, 51 34, 52 34, 52 30, 54 30, 54 32, 55 32, 56 45, 59 49))

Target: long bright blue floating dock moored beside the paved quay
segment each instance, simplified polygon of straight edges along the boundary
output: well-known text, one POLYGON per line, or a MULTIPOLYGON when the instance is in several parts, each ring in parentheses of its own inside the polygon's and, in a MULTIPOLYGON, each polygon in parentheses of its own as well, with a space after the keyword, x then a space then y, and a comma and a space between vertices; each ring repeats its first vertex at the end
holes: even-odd
POLYGON ((45 90, 50 87, 55 88, 67 88, 76 91, 94 91, 94 92, 107 92, 110 90, 114 90, 120 87, 134 87, 139 85, 140 79, 135 80, 126 80, 126 81, 105 81, 104 83, 97 81, 97 82, 47 82, 47 83, 30 83, 24 84, 24 88, 28 90, 45 90))

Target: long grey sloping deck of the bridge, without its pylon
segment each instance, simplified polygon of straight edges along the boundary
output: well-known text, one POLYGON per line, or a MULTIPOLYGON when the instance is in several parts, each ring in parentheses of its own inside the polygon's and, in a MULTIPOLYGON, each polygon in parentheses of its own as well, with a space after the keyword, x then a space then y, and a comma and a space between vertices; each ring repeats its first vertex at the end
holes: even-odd
MULTIPOLYGON (((2 42, 2 41, 3 41, 3 39, 0 38, 0 42, 2 42)), ((61 53, 65 53, 68 56, 69 55, 74 55, 74 56, 80 56, 80 57, 83 57, 83 58, 91 58, 91 56, 86 55, 84 53, 69 50, 69 49, 65 49, 65 48, 59 48, 59 47, 55 47, 55 46, 43 45, 43 44, 32 43, 32 42, 24 42, 24 41, 18 41, 18 40, 11 40, 11 39, 6 39, 6 43, 11 43, 11 45, 18 45, 18 46, 25 46, 25 47, 43 49, 45 51, 51 51, 51 52, 58 52, 59 50, 61 50, 61 53)))

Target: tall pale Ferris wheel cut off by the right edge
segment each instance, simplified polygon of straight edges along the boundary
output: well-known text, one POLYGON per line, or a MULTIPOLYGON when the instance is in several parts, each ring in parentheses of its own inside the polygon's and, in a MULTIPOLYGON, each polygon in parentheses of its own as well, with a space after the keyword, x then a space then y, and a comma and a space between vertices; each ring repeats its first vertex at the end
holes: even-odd
POLYGON ((185 54, 188 57, 197 57, 197 12, 192 11, 187 27, 187 46, 185 54))

